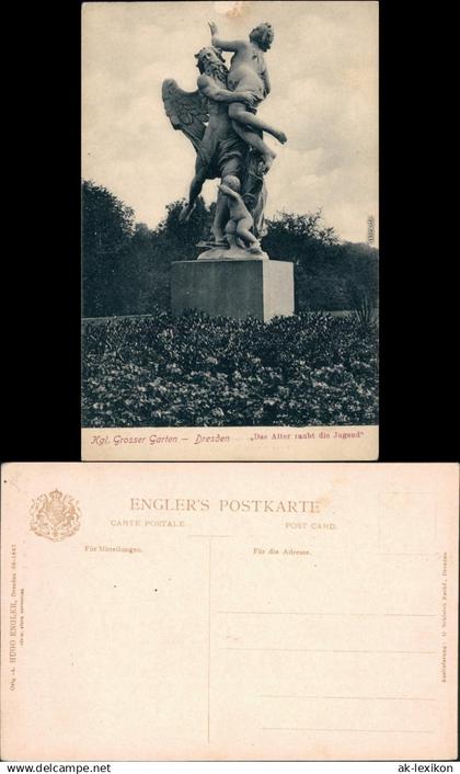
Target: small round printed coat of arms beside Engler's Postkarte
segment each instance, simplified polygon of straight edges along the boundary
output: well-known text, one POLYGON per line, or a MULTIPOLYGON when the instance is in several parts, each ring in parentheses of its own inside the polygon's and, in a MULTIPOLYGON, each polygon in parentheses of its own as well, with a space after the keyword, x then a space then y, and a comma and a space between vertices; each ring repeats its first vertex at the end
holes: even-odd
POLYGON ((49 494, 41 494, 31 506, 31 530, 49 540, 70 537, 80 527, 80 508, 70 494, 55 489, 49 494))

